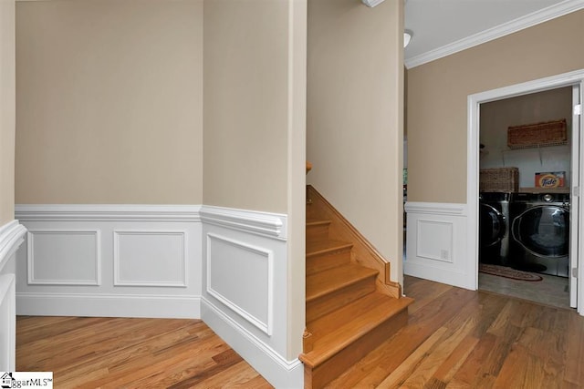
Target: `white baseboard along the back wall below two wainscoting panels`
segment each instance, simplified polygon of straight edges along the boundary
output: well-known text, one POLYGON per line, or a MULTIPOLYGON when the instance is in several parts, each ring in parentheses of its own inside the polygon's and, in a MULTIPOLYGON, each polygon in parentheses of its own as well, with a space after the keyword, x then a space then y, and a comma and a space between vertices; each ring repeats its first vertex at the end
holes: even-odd
POLYGON ((201 297, 18 292, 16 314, 200 319, 201 297))

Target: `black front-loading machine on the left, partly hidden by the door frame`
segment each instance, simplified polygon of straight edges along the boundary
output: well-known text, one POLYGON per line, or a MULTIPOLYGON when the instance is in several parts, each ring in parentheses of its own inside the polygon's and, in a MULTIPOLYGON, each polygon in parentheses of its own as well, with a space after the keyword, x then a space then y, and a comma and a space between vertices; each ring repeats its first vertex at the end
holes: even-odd
POLYGON ((510 203, 513 195, 510 192, 479 194, 479 262, 507 265, 510 203))

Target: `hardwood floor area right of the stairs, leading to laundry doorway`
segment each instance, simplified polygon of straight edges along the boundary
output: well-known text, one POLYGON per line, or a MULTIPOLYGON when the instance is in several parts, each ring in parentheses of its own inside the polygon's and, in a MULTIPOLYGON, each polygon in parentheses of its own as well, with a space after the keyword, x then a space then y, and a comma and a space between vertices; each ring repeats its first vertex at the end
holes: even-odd
POLYGON ((584 318, 405 277, 410 321, 328 388, 581 388, 584 318))

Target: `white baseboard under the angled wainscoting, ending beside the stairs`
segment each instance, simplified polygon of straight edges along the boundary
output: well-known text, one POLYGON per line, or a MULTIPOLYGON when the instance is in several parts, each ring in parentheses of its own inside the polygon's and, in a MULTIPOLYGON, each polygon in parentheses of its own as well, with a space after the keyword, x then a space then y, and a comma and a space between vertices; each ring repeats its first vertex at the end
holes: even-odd
POLYGON ((304 387, 304 364, 298 359, 285 360, 213 303, 203 300, 201 309, 203 322, 270 384, 282 389, 304 387))

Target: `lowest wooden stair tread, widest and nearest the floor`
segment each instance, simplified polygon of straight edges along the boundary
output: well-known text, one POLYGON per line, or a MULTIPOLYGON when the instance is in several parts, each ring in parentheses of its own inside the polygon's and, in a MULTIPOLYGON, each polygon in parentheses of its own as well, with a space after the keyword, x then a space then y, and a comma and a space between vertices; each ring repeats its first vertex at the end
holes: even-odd
MULTIPOLYGON (((413 300, 408 297, 395 299, 379 292, 373 292, 319 318, 310 327, 327 325, 334 330, 328 331, 323 336, 318 336, 314 340, 312 351, 301 354, 300 360, 312 368, 326 362, 349 344, 357 342, 382 322, 391 320, 391 317, 407 309, 412 302, 413 300), (331 325, 333 323, 336 325, 331 325)), ((388 335, 391 336, 392 333, 388 335)))

